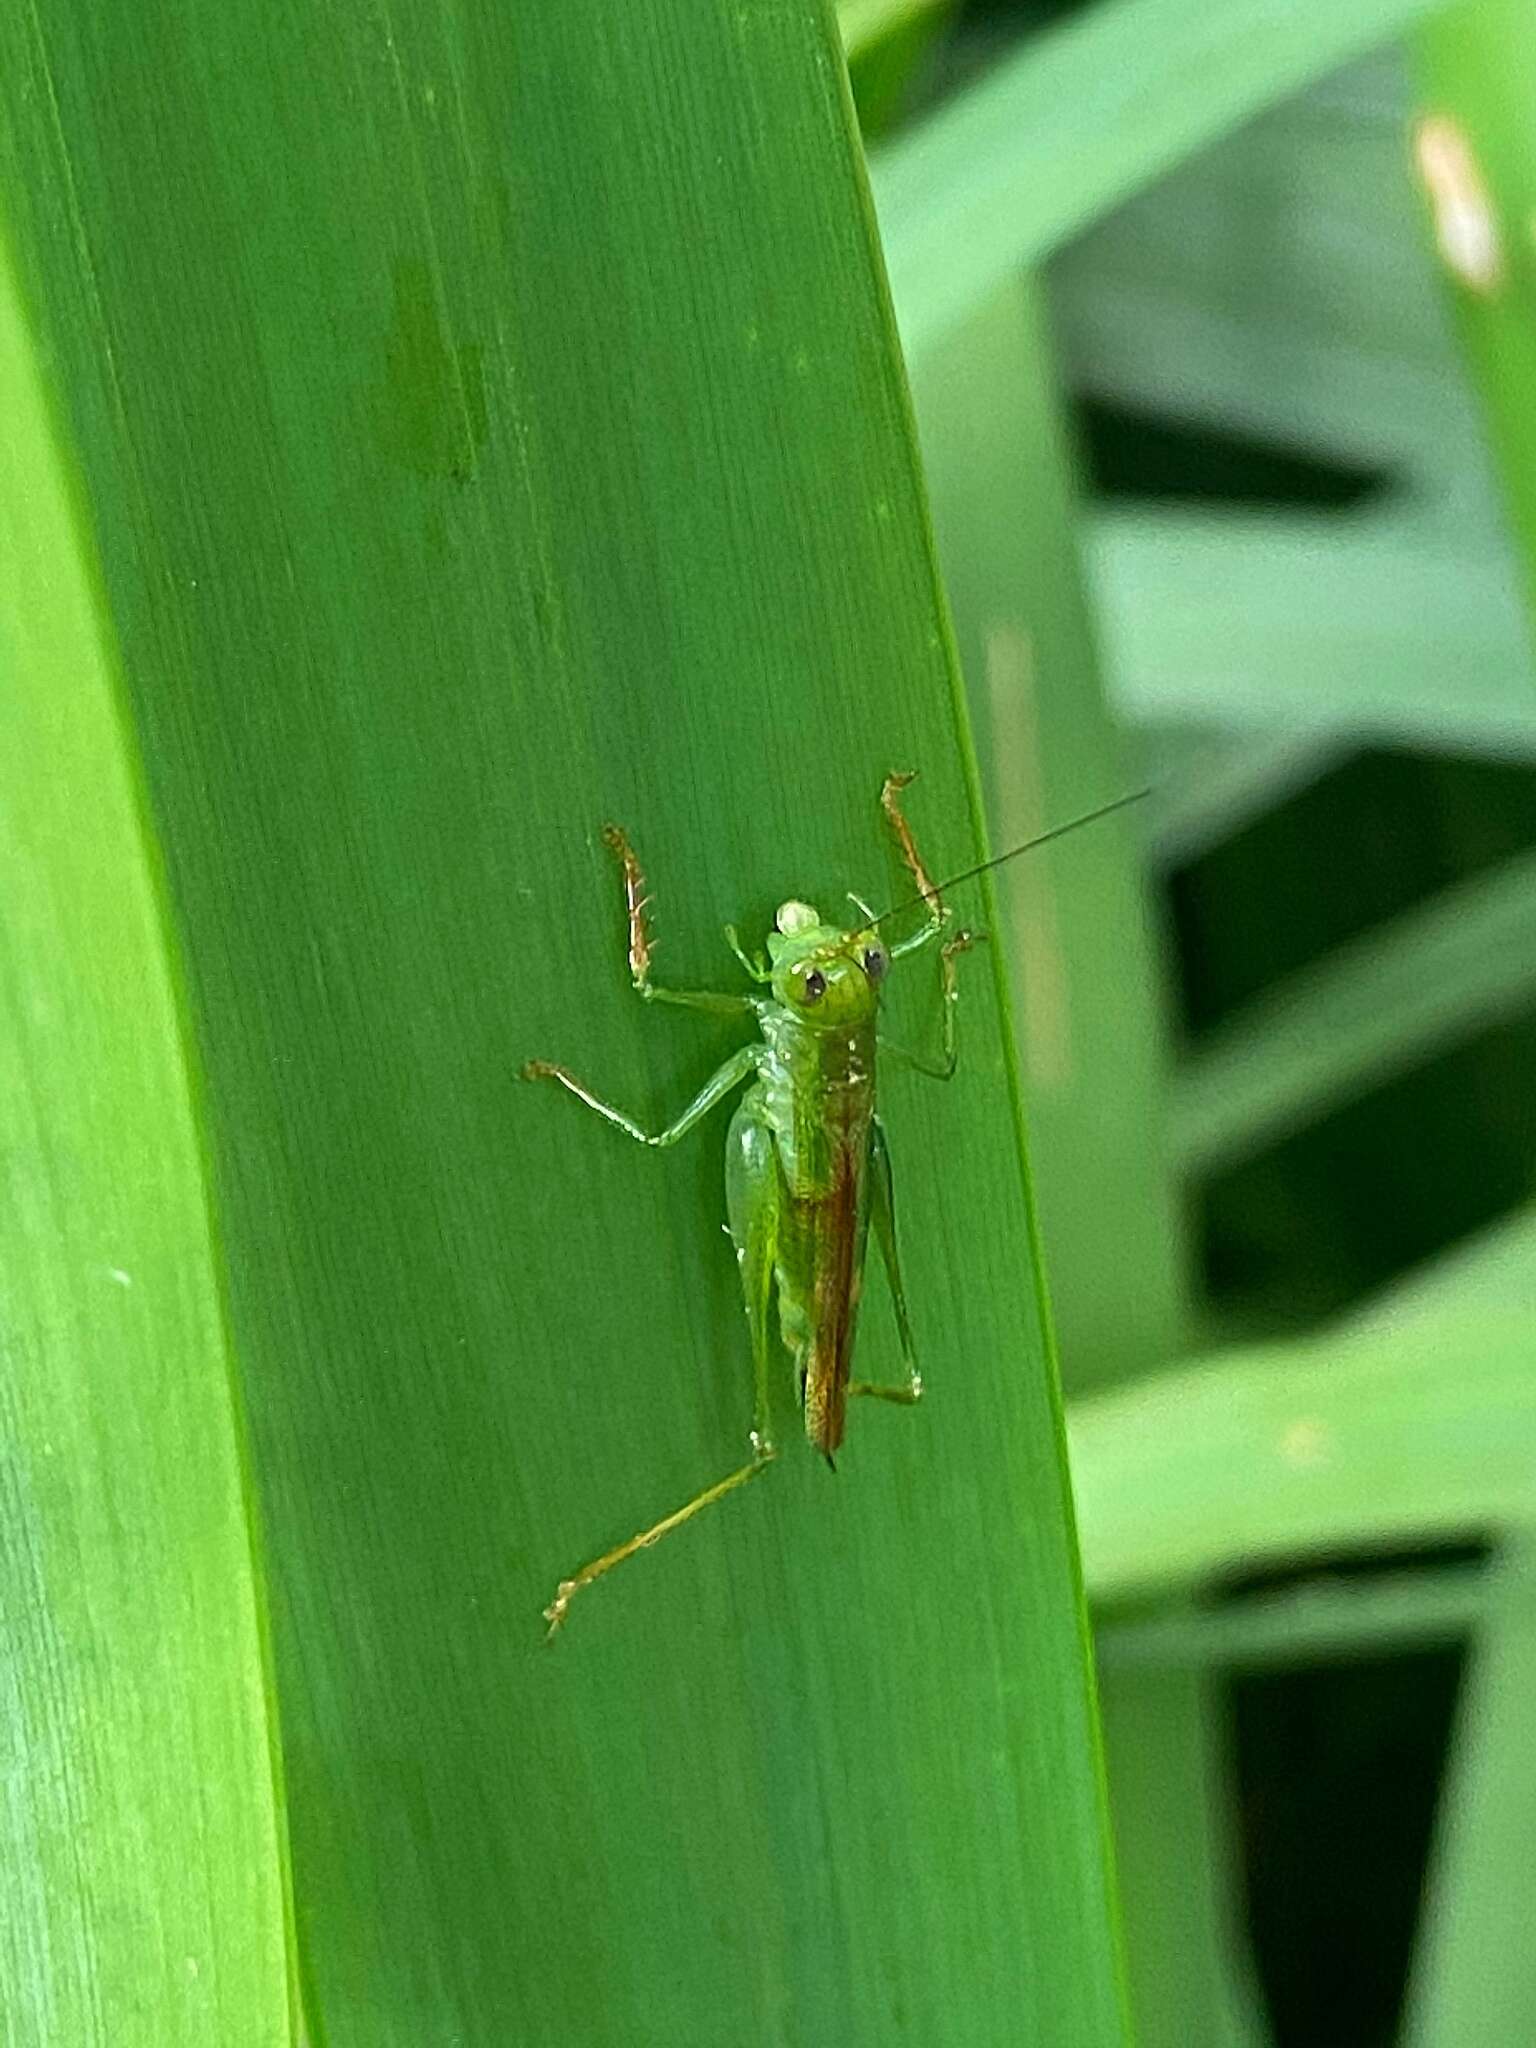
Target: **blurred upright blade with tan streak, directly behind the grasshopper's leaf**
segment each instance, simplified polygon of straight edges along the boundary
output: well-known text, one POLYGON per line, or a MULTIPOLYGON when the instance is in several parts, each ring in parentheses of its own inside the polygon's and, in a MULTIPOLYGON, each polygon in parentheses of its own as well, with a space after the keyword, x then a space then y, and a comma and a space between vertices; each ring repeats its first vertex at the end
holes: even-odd
MULTIPOLYGON (((934 520, 995 846, 1133 786, 1110 727, 1077 555, 1079 500, 1034 281, 1010 285, 915 375, 934 520)), ((1051 1300, 1071 1389, 1178 1354, 1182 1243, 1163 1157, 1159 999, 1139 819, 1016 862, 999 907, 1020 1018, 1051 1300), (1106 1257, 1106 1245, 1114 1255, 1106 1257)), ((1104 1694, 1124 1927, 1143 2048, 1241 2030, 1200 1683, 1110 1675, 1104 1694)))

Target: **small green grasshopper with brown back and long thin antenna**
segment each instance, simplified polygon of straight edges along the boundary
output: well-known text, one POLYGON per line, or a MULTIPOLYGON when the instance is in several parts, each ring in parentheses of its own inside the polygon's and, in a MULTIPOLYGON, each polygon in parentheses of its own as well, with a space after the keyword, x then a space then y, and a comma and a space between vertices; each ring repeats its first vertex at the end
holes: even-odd
MULTIPOLYGON (((901 1284, 897 1257, 895 1212, 891 1200, 891 1155, 885 1128, 874 1114, 877 1053, 918 1073, 948 1081, 956 1065, 954 1004, 958 983, 954 961, 985 934, 956 930, 944 936, 950 909, 940 885, 932 881, 901 809, 901 791, 909 774, 891 774, 881 788, 881 809, 895 834, 901 860, 911 874, 915 895, 877 918, 860 897, 850 901, 862 913, 852 930, 823 924, 809 903, 780 903, 774 930, 768 934, 766 958, 754 958, 741 948, 733 926, 725 940, 754 983, 766 995, 719 995, 702 989, 662 989, 651 981, 651 928, 645 874, 629 838, 618 825, 606 825, 602 838, 618 856, 625 877, 629 913, 629 975, 645 1001, 682 1004, 690 1010, 750 1012, 762 1038, 741 1047, 698 1090, 688 1108, 664 1130, 643 1130, 631 1116, 602 1102, 565 1067, 530 1059, 522 1067, 528 1081, 559 1081, 580 1102, 639 1145, 676 1145, 709 1112, 743 1081, 752 1081, 741 1098, 725 1141, 725 1214, 741 1274, 741 1294, 748 1313, 754 1364, 752 1458, 725 1479, 705 1487, 682 1507, 664 1516, 629 1542, 604 1550, 561 1579, 553 1602, 545 1608, 549 1634, 565 1620, 571 1599, 614 1565, 635 1556, 690 1522, 702 1507, 725 1499, 778 1454, 770 1423, 770 1307, 778 1288, 778 1329, 795 1360, 805 1434, 834 1464, 844 1440, 848 1401, 872 1395, 879 1401, 913 1405, 924 1382, 911 1341, 911 1317, 901 1284), (905 909, 924 907, 918 932, 895 944, 881 938, 881 926, 905 909), (881 987, 895 961, 940 942, 938 971, 942 993, 942 1024, 938 1053, 918 1053, 891 1044, 879 1032, 881 987), (895 1305, 897 1339, 905 1382, 883 1386, 852 1378, 854 1321, 864 1278, 864 1247, 870 1225, 885 1264, 885 1276, 895 1305)), ((1133 799, 1090 811, 1073 825, 1102 817, 1133 799)), ((999 860, 1012 860, 1044 840, 1059 838, 1071 825, 1059 825, 1038 840, 1016 846, 999 860)), ((999 860, 983 862, 983 868, 999 860)), ((969 881, 981 868, 956 874, 969 881)), ((944 883, 944 889, 952 883, 944 883)), ((834 1466, 836 1468, 836 1466, 834 1466)))

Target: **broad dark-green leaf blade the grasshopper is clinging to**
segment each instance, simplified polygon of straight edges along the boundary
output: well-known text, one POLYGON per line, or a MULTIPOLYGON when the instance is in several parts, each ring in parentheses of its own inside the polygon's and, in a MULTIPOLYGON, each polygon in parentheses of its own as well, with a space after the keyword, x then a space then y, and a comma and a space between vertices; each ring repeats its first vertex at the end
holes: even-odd
POLYGON ((629 993, 600 825, 684 987, 727 918, 905 893, 891 768, 979 858, 827 12, 242 0, 154 82, 47 14, 115 395, 29 225, 207 1069, 317 2040, 1118 2042, 995 965, 965 1077, 885 1102, 930 1401, 539 1620, 750 1421, 719 1126, 651 1157, 516 1081, 659 1120, 735 1042, 629 993))

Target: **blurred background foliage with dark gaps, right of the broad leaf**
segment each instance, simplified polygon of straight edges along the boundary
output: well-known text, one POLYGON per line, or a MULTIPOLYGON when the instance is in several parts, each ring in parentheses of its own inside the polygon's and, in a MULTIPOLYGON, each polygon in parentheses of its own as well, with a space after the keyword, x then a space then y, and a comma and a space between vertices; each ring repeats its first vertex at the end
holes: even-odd
POLYGON ((979 713, 993 784, 1100 696, 1102 772, 1153 788, 1155 981, 1079 938, 1057 1081, 1026 1049, 1141 2038, 1495 2048, 1536 2038, 1536 39, 1270 16, 848 31, 973 692, 989 618, 1040 653, 1034 723, 979 713), (973 420, 1055 416, 1012 477, 954 453, 967 379, 973 420), (1071 539, 977 588, 1042 494, 1071 539))

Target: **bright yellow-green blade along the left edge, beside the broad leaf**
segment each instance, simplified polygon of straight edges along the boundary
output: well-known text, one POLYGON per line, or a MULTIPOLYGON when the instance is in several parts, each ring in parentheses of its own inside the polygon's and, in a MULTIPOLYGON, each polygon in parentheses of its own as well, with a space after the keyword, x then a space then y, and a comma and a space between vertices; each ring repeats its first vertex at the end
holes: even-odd
MULTIPOLYGON (((12 190, 2 131, 0 168, 12 190)), ((113 625, 45 379, 0 223, 0 2036, 279 2048, 215 1247, 113 625)))

